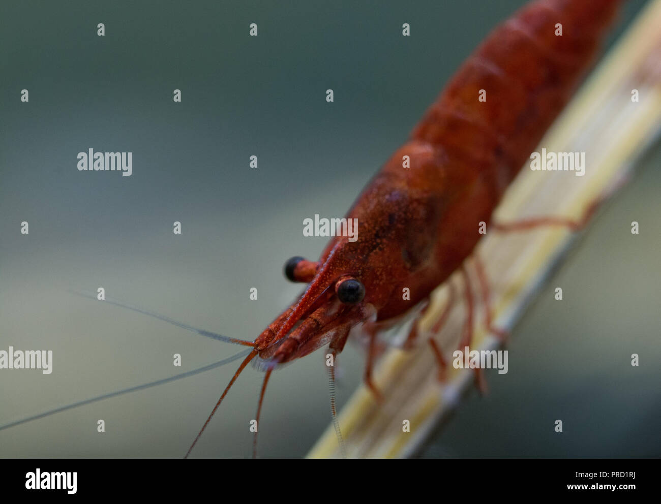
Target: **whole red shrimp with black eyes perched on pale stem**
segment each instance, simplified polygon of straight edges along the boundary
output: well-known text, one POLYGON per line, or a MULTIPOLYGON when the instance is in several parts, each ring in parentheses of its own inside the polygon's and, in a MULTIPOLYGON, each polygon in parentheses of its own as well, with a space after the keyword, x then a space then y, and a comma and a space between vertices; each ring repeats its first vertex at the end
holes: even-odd
MULTIPOLYGON (((350 329, 361 323, 373 347, 381 328, 461 268, 481 238, 479 223, 490 222, 504 191, 572 96, 619 4, 533 1, 486 38, 346 215, 358 219, 358 240, 336 236, 318 262, 292 258, 286 264, 290 280, 309 285, 254 342, 245 342, 253 350, 188 454, 255 357, 266 368, 261 407, 276 365, 329 343, 331 353, 339 353, 350 329), (481 94, 486 100, 479 100, 481 94), (405 288, 410 297, 403 296, 405 288)), ((371 349, 369 355, 371 386, 371 349)))

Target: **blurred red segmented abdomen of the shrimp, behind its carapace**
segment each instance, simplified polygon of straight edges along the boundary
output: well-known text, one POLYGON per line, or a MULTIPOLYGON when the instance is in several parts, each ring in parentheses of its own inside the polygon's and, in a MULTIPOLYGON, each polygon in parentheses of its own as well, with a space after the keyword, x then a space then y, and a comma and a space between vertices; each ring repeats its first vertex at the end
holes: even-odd
POLYGON ((466 157, 502 194, 576 89, 620 3, 529 3, 467 59, 412 139, 466 157))

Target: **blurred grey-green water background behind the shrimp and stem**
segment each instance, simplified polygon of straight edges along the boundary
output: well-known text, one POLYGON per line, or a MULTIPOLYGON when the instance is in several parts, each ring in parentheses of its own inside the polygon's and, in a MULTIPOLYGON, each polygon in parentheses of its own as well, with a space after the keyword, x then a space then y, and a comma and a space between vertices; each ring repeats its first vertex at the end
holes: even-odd
MULTIPOLYGON (((237 351, 69 289, 102 286, 253 340, 299 292, 284 261, 325 245, 303 237, 302 219, 341 217, 522 3, 3 1, 0 349, 52 349, 54 371, 0 370, 0 425, 237 351), (77 153, 90 148, 132 152, 132 176, 79 172, 77 153)), ((642 5, 627 3, 610 42, 642 5)), ((661 454, 660 163, 657 145, 516 326, 509 373, 487 373, 489 396, 470 394, 421 456, 661 454)), ((363 362, 353 345, 340 355, 340 405, 363 362)), ((0 456, 183 456, 235 368, 0 431, 0 456)), ((239 378, 194 456, 251 456, 261 378, 251 368, 239 378)), ((328 423, 317 352, 272 377, 260 456, 304 456, 328 423)))

